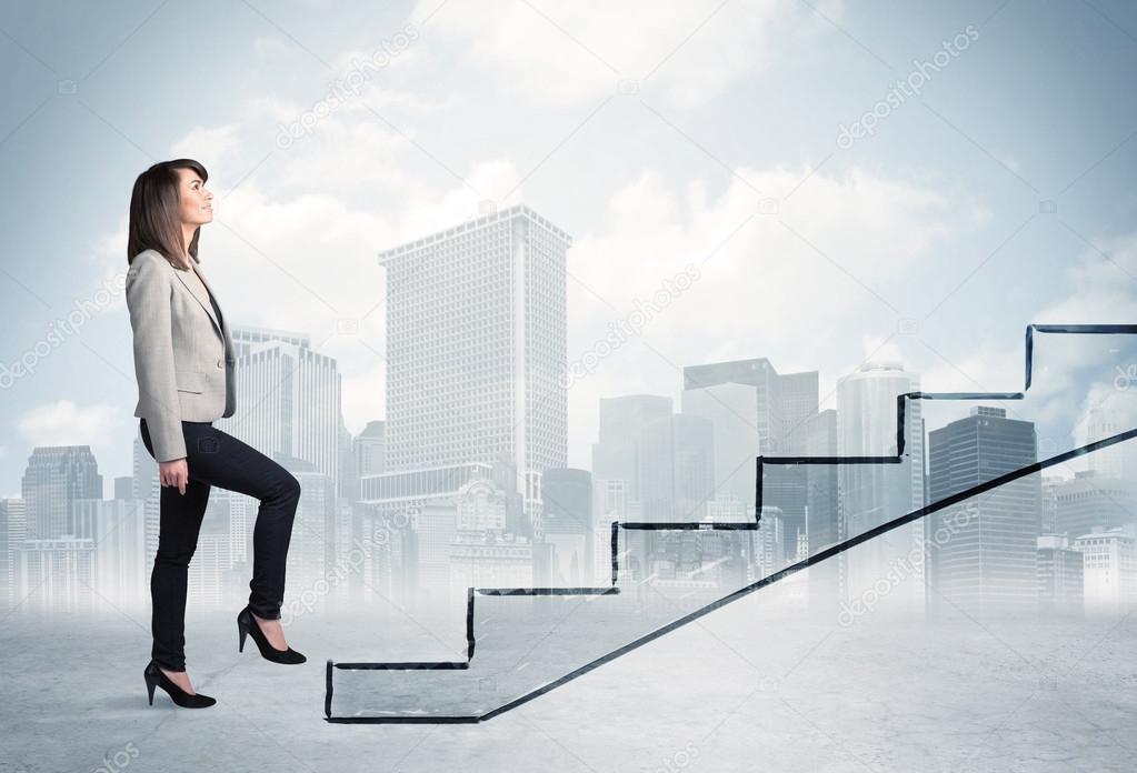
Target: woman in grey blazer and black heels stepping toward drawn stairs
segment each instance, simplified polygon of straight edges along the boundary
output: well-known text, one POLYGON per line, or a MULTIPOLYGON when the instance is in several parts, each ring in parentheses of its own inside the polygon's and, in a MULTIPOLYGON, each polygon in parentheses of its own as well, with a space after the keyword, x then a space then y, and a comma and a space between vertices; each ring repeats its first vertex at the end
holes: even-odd
POLYGON ((260 500, 249 605, 236 618, 239 650, 251 635, 268 660, 306 659, 284 641, 280 624, 300 483, 213 426, 236 409, 236 357, 229 324, 197 266, 201 225, 213 221, 207 177, 194 160, 164 161, 140 174, 131 194, 126 305, 139 384, 134 416, 161 483, 158 552, 150 575, 153 647, 143 674, 151 706, 156 687, 179 706, 216 703, 194 691, 184 651, 186 575, 213 485, 260 500))

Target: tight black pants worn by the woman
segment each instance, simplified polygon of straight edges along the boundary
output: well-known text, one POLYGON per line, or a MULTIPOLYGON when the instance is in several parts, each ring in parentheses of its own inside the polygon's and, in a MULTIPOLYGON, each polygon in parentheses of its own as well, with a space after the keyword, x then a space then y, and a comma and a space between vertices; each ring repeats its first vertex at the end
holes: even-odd
MULTIPOLYGON (((147 451, 153 456, 144 418, 139 422, 139 430, 147 451)), ((186 579, 210 487, 219 485, 260 500, 252 530, 249 608, 264 620, 281 616, 284 564, 300 501, 300 482, 251 446, 209 422, 182 422, 182 432, 190 480, 184 496, 177 487, 161 487, 158 554, 150 574, 151 657, 168 671, 185 671, 186 579)))

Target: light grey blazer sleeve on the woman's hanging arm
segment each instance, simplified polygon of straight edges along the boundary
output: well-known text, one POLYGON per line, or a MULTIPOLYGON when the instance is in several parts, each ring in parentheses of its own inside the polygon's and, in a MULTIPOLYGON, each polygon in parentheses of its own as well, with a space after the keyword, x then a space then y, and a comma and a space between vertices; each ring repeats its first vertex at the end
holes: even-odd
POLYGON ((169 273, 156 252, 141 252, 126 272, 126 306, 134 330, 134 375, 155 458, 185 457, 181 405, 174 371, 169 273))

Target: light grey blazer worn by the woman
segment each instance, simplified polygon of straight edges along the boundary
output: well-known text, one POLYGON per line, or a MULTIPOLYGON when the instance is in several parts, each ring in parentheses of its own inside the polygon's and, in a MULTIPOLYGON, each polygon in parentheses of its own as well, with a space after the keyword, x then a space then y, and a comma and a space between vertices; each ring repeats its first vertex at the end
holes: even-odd
MULTIPOLYGON (((205 276, 201 283, 213 296, 205 276)), ((236 410, 229 324, 193 286, 156 250, 139 252, 126 272, 139 383, 134 416, 146 418, 158 462, 185 456, 183 421, 214 422, 236 410)))

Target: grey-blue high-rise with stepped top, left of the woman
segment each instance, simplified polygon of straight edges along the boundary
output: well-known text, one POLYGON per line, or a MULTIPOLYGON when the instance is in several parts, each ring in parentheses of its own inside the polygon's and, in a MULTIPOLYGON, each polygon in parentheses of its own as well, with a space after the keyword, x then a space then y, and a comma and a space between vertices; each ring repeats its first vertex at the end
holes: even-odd
POLYGON ((102 475, 90 446, 41 446, 32 450, 20 481, 30 539, 74 534, 72 502, 102 499, 102 475))

